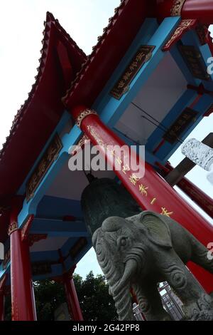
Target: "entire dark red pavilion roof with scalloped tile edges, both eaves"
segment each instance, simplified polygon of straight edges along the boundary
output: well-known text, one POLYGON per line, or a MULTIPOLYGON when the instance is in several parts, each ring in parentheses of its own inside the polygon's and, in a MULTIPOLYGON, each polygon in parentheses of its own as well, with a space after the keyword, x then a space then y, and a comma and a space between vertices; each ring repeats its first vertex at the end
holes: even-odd
MULTIPOLYGON (((0 153, 0 207, 16 194, 65 106, 91 106, 128 50, 155 0, 121 0, 87 57, 52 14, 45 21, 38 75, 0 153), (63 98, 62 98, 63 97, 63 98)), ((209 48, 213 51, 212 38, 209 48)))

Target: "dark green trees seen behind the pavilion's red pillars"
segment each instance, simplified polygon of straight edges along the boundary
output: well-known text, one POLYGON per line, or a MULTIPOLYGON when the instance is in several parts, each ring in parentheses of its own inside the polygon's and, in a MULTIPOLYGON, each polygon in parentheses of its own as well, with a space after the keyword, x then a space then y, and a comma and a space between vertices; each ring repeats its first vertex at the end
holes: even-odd
MULTIPOLYGON (((109 296, 109 287, 101 274, 94 277, 93 272, 82 279, 74 274, 75 288, 80 307, 86 321, 114 321, 117 319, 114 301, 109 296)), ((34 282, 35 304, 38 320, 53 321, 55 309, 66 301, 62 284, 50 280, 34 282)), ((6 299, 6 319, 11 319, 11 301, 6 299)))

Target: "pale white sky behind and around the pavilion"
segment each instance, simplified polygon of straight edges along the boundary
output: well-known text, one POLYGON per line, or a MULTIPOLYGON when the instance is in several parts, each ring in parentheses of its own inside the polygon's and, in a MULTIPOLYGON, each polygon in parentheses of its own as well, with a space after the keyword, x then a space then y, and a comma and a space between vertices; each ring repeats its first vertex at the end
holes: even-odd
MULTIPOLYGON (((120 0, 0 0, 0 148, 9 135, 14 115, 35 82, 46 11, 52 12, 78 46, 89 54, 119 4, 120 0)), ((202 140, 212 132, 212 124, 213 115, 204 118, 190 138, 202 140)), ((170 162, 175 166, 182 158, 179 149, 170 162)), ((196 167, 187 177, 213 196, 206 175, 207 172, 196 167)), ((77 273, 84 277, 91 269, 94 273, 101 272, 92 249, 78 264, 77 273)))

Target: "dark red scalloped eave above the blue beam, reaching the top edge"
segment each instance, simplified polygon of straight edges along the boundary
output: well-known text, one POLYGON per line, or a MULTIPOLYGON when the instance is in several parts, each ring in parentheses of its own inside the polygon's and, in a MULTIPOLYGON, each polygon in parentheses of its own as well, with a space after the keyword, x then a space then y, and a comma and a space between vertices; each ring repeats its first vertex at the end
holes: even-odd
POLYGON ((115 15, 109 19, 98 43, 72 82, 63 102, 71 109, 75 105, 91 106, 104 88, 114 69, 138 33, 150 8, 146 0, 121 1, 115 15))

